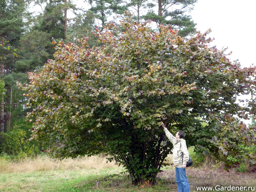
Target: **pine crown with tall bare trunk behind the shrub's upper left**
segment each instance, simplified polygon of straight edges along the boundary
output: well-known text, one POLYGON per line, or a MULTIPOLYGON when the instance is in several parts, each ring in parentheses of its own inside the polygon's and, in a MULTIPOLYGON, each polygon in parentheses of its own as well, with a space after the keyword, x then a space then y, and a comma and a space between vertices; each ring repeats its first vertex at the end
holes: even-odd
MULTIPOLYGON (((31 28, 21 37, 21 55, 23 59, 16 62, 20 72, 32 71, 44 65, 47 59, 53 59, 55 52, 52 38, 56 40, 67 38, 67 25, 71 21, 67 10, 76 10, 72 1, 50 0, 45 3, 43 12, 31 18, 31 28)), ((40 5, 41 6, 41 5, 40 5)), ((70 23, 69 23, 70 24, 70 23)))

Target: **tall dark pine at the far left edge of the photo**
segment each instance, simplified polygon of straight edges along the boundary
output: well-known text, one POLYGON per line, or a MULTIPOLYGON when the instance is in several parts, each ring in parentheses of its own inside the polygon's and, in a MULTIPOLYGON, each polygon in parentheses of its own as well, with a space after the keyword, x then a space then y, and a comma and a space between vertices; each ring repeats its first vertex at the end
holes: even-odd
POLYGON ((4 99, 1 95, 1 140, 0 147, 2 148, 4 140, 4 123, 11 118, 11 110, 6 108, 5 105, 12 104, 12 86, 8 86, 5 80, 6 76, 12 76, 12 71, 15 68, 15 61, 17 60, 16 48, 19 46, 19 40, 22 32, 24 31, 24 12, 26 11, 27 4, 25 1, 20 0, 2 0, 0 1, 0 62, 1 62, 1 76, 4 81, 6 94, 10 93, 11 97, 4 99))

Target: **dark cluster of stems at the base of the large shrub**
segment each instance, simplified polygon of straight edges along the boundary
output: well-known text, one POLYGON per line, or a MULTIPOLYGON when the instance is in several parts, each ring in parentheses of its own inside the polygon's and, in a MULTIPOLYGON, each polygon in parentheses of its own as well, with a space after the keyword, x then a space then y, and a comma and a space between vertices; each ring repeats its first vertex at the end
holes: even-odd
MULTIPOLYGON (((150 133, 150 131, 143 129, 137 129, 136 132, 133 127, 128 132, 132 136, 130 135, 129 140, 126 140, 126 136, 124 136, 121 145, 119 144, 120 141, 116 140, 115 135, 113 138, 108 138, 108 140, 112 140, 106 146, 111 155, 108 160, 115 160, 118 164, 122 164, 129 172, 133 185, 143 185, 145 182, 154 185, 157 174, 161 172, 161 167, 166 165, 164 159, 170 153, 171 144, 170 142, 163 144, 164 132, 150 133)), ((115 133, 116 135, 124 134, 124 132, 117 133, 117 131, 115 133)))

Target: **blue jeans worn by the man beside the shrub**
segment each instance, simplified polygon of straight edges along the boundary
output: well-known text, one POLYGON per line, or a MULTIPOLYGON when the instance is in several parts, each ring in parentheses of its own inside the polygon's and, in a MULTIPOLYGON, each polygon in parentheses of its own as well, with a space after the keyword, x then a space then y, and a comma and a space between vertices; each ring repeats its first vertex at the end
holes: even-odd
POLYGON ((182 167, 175 167, 175 170, 178 192, 190 192, 188 178, 186 176, 186 169, 183 169, 182 167))

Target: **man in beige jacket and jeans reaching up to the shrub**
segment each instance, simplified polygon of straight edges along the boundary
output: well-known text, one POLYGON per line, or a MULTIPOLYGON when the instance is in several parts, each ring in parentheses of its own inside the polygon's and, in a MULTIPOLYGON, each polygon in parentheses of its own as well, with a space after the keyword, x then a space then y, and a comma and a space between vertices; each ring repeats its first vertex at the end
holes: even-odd
POLYGON ((186 164, 189 160, 189 153, 186 145, 186 140, 183 139, 185 133, 183 131, 179 131, 174 137, 172 133, 167 130, 163 122, 161 122, 161 125, 164 128, 165 135, 173 144, 172 158, 176 170, 176 182, 178 185, 178 192, 190 192, 188 178, 186 176, 186 164))

